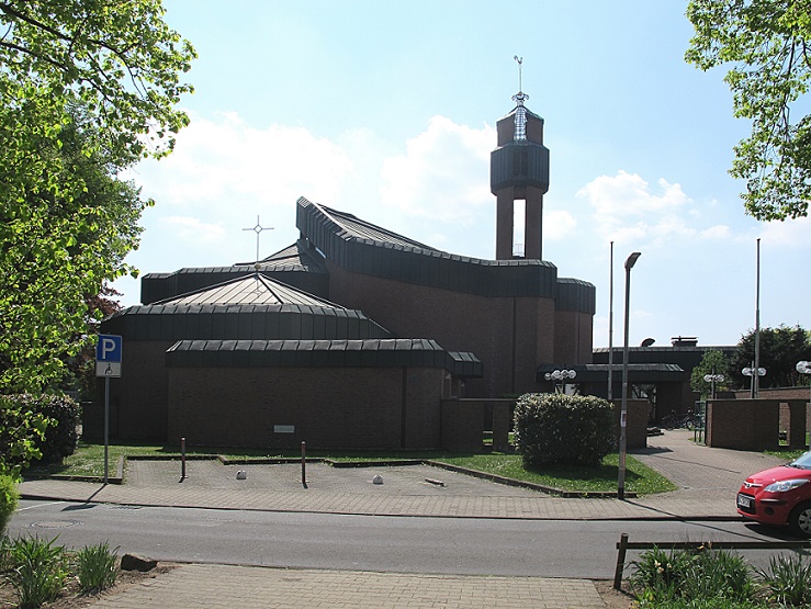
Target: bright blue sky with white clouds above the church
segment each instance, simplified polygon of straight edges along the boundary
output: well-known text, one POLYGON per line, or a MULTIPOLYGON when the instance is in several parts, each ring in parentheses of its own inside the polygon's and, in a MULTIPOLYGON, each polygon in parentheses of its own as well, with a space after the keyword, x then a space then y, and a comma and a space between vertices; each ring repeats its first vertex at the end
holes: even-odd
MULTIPOLYGON (((668 0, 167 0, 194 45, 174 153, 126 178, 155 200, 127 262, 142 274, 229 266, 295 241, 300 196, 435 248, 495 258, 489 153, 515 106, 544 119, 543 259, 596 286, 594 347, 676 336, 735 345, 811 328, 809 228, 745 215, 728 170, 750 125, 725 70, 684 60, 668 0), (272 228, 272 230, 270 229, 272 228), (759 290, 758 240, 759 239, 759 290), (611 243, 613 245, 611 245, 611 243), (610 302, 611 252, 613 298, 610 302)), ((139 302, 139 282, 114 286, 139 302)))

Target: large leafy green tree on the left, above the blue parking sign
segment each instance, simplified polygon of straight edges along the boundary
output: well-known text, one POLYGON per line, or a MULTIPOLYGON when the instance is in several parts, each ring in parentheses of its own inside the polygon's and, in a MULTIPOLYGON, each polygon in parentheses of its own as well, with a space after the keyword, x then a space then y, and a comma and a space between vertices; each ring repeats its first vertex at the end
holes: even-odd
POLYGON ((0 392, 38 393, 87 332, 89 294, 131 272, 143 207, 115 177, 161 157, 191 45, 160 0, 0 1, 0 392))

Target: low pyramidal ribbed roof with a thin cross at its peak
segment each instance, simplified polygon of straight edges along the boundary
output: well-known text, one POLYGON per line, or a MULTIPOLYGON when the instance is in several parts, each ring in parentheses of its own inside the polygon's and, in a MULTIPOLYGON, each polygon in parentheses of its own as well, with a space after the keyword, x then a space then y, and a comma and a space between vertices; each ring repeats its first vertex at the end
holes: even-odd
POLYGON ((239 277, 229 281, 181 294, 155 305, 305 305, 328 308, 342 306, 318 298, 292 285, 274 281, 262 273, 239 277))

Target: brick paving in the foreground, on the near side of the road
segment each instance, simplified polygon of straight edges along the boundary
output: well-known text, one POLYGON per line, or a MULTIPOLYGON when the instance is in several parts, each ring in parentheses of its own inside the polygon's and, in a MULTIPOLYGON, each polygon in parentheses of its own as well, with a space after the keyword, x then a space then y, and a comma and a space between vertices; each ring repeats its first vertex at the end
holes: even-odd
POLYGON ((403 575, 184 565, 105 597, 102 609, 172 608, 605 608, 582 579, 403 575))

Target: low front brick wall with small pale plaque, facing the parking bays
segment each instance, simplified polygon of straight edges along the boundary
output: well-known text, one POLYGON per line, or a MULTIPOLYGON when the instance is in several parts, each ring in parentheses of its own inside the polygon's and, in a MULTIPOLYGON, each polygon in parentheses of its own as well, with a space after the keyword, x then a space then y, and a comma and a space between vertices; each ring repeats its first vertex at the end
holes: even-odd
POLYGON ((169 440, 195 446, 438 448, 443 371, 173 368, 169 440), (294 426, 277 433, 274 426, 294 426))

